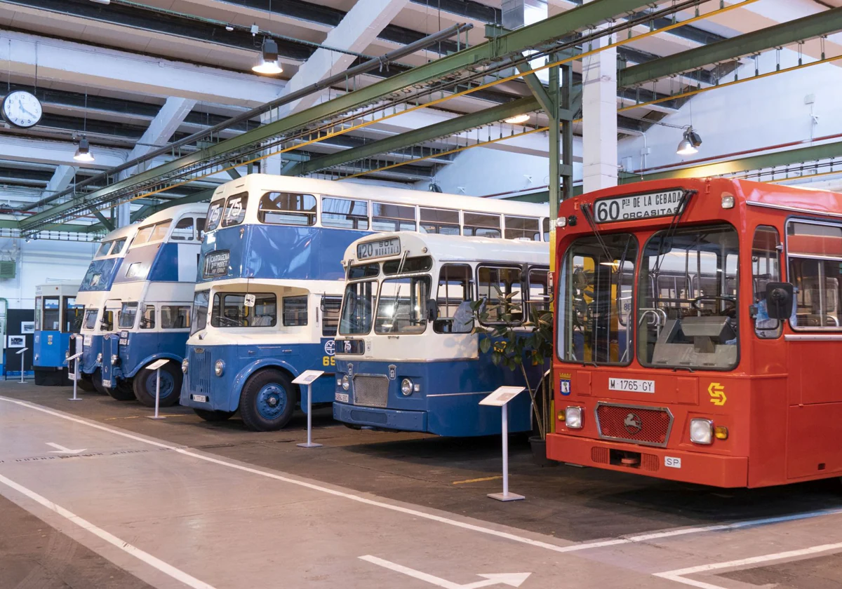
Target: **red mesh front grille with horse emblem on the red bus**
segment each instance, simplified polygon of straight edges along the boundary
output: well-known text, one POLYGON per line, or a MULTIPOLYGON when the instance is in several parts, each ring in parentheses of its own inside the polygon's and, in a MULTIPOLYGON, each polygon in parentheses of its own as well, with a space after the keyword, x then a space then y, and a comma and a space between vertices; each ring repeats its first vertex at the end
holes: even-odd
POLYGON ((600 438, 663 448, 673 427, 673 415, 665 407, 599 403, 596 424, 600 438))

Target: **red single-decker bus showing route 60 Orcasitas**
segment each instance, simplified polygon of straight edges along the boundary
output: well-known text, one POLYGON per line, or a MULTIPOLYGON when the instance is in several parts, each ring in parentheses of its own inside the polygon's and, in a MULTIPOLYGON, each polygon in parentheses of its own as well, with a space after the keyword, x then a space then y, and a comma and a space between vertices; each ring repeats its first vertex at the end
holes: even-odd
POLYGON ((673 179, 559 207, 550 459, 721 487, 842 475, 842 194, 673 179))

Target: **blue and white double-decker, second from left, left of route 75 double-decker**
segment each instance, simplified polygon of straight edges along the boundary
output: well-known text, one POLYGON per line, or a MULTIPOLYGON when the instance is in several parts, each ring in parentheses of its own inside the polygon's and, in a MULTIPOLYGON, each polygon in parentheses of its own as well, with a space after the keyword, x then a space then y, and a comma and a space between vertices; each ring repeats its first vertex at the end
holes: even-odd
POLYGON ((114 329, 103 338, 102 385, 118 401, 155 405, 154 370, 161 358, 161 406, 179 401, 181 361, 190 331, 205 204, 182 204, 139 224, 123 268, 105 301, 114 329))

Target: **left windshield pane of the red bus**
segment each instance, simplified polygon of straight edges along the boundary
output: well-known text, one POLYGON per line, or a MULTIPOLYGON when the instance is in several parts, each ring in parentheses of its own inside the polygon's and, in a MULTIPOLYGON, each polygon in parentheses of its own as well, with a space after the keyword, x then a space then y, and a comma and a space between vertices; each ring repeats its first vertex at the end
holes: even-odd
POLYGON ((631 362, 637 240, 628 233, 581 237, 568 249, 559 287, 558 353, 567 362, 631 362), (601 240, 600 240, 601 238, 601 240))

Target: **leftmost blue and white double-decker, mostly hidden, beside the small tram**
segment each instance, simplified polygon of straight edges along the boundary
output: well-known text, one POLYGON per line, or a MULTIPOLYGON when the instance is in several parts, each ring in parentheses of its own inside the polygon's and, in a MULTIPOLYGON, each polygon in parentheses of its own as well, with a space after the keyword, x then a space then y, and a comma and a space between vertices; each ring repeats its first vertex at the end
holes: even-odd
POLYGON ((78 346, 83 344, 83 355, 79 358, 79 387, 88 392, 106 393, 100 369, 102 343, 104 335, 114 331, 114 310, 106 310, 105 301, 136 233, 137 225, 130 225, 104 236, 79 285, 76 303, 84 309, 82 330, 73 338, 68 354, 77 353, 78 346))

